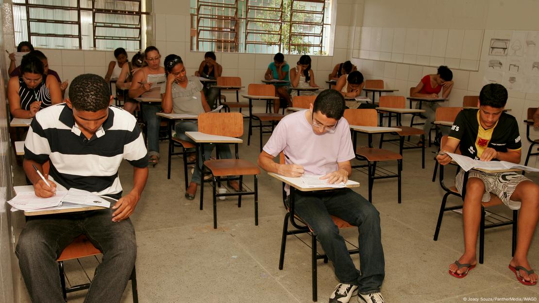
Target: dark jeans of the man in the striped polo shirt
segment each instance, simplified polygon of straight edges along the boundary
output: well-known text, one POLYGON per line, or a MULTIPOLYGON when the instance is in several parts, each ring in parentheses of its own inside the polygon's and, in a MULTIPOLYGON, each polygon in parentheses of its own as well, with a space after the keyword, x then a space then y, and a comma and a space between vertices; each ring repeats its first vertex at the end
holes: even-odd
POLYGON ((56 259, 84 234, 103 253, 85 302, 120 302, 136 259, 129 219, 112 222, 112 209, 27 217, 15 253, 32 302, 64 302, 56 259))

